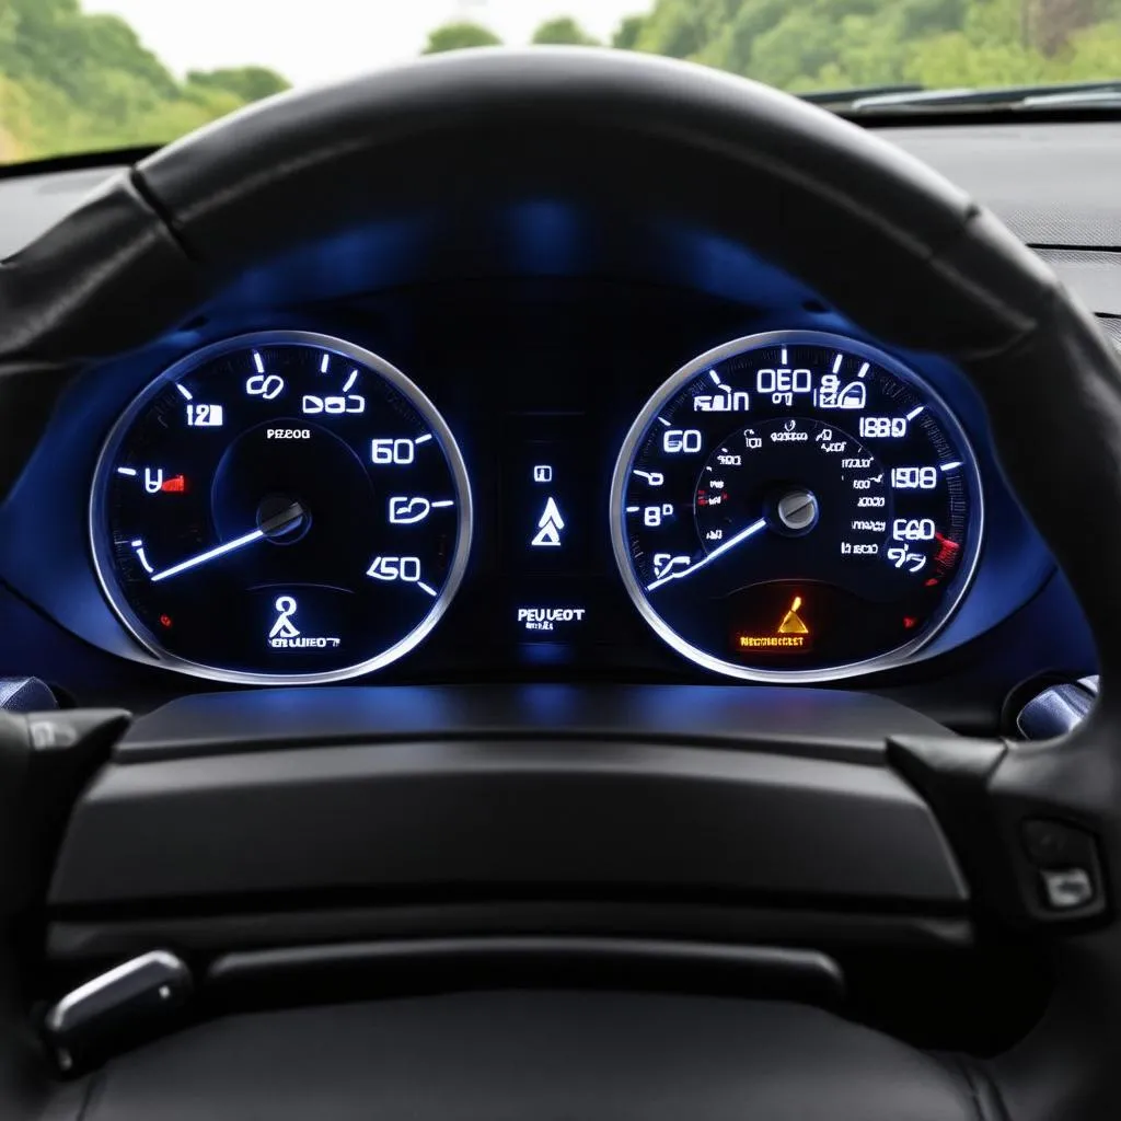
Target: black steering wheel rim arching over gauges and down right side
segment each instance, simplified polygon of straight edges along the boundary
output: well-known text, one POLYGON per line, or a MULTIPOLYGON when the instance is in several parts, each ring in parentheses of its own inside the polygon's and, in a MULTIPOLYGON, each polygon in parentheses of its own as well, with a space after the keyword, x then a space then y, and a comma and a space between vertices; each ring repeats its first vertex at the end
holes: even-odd
POLYGON ((1091 623, 1100 700, 1063 741, 896 741, 888 761, 933 809, 979 918, 1053 958, 1041 1021, 984 1064, 1011 1121, 1121 1115, 1121 364, 991 214, 874 136, 751 82, 583 49, 467 52, 250 108, 120 175, 0 269, 0 494, 82 364, 169 330, 249 267, 425 202, 541 195, 641 198, 750 245, 874 335, 952 359, 983 398, 1091 623), (1086 877, 1084 906, 1048 909, 1048 853, 1086 877))

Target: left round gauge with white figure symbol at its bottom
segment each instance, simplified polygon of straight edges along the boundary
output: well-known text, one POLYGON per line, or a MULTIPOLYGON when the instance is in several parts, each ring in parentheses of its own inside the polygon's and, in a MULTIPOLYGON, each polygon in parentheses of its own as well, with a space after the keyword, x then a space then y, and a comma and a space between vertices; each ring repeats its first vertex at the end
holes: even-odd
POLYGON ((187 673, 313 684, 407 654, 454 596, 471 491, 383 359, 271 332, 173 365, 102 452, 90 531, 124 624, 187 673))

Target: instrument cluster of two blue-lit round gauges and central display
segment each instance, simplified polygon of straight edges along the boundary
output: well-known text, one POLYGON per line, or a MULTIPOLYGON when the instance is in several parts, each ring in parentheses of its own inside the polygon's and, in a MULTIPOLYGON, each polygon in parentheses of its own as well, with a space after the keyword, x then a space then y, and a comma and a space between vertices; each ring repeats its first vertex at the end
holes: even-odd
POLYGON ((380 670, 458 595, 487 595, 474 618, 546 660, 600 641, 580 591, 595 540, 634 617, 714 674, 858 675, 946 627, 984 494, 963 425, 918 372, 854 337, 785 330, 641 373, 661 385, 622 418, 613 478, 589 476, 596 451, 562 401, 495 426, 499 489, 480 494, 424 371, 305 331, 214 342, 146 386, 102 447, 100 586, 160 664, 238 683, 380 670), (464 581, 488 501, 507 513, 489 593, 464 581))

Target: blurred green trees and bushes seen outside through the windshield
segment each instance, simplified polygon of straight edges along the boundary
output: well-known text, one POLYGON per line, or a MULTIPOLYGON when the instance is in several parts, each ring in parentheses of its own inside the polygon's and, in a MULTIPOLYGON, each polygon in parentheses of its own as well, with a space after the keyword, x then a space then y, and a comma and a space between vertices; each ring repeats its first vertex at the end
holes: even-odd
MULTIPOLYGON (((252 0, 230 0, 238 2, 252 0)), ((354 28, 333 31, 365 34, 379 19, 402 18, 389 3, 379 15, 379 3, 354 0, 354 28)), ((191 19, 193 7, 159 0, 163 18, 191 19)), ((315 4, 257 7, 262 20, 297 27, 316 18, 315 4)), ((210 70, 200 59, 177 72, 112 8, 0 0, 0 163, 165 143, 289 86, 269 57, 210 70)), ((502 41, 488 0, 446 8, 443 24, 418 30, 416 53, 502 41)), ((531 41, 688 58, 795 92, 1121 78, 1121 0, 633 0, 599 38, 564 9, 557 0, 531 41)))

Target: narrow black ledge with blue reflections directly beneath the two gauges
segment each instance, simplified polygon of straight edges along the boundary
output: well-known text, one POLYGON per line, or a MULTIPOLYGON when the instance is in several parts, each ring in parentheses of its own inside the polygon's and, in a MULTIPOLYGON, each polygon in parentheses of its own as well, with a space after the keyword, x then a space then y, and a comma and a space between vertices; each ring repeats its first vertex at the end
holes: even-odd
POLYGON ((879 762, 884 735, 944 735, 883 697, 822 689, 722 686, 388 686, 266 689, 182 697, 141 716, 119 762, 328 743, 547 738, 573 741, 754 743, 803 757, 879 762), (543 736, 543 728, 547 732, 543 736))

